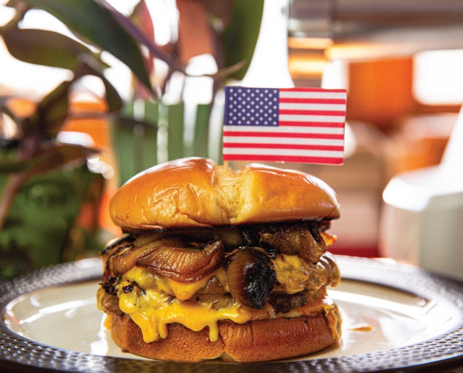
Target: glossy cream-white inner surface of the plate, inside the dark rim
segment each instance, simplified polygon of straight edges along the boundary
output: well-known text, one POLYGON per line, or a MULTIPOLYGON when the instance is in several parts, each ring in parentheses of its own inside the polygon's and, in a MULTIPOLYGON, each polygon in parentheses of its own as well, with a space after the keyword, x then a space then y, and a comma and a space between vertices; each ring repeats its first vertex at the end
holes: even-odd
MULTIPOLYGON (((102 356, 143 359, 123 353, 96 308, 98 281, 52 286, 20 296, 4 312, 6 326, 32 341, 102 356)), ((460 311, 445 300, 420 298, 386 286, 342 280, 329 291, 344 319, 342 342, 307 357, 321 359, 398 348, 452 329, 460 311), (371 327, 370 331, 361 331, 371 327)))

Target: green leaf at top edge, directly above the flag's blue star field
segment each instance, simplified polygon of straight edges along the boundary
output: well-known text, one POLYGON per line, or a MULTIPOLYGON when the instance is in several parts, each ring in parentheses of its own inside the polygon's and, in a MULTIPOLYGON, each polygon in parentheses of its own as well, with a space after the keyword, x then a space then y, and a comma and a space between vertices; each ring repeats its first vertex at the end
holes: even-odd
POLYGON ((244 60, 245 64, 231 75, 243 79, 249 68, 262 20, 264 0, 235 0, 232 19, 222 34, 225 66, 232 66, 244 60))

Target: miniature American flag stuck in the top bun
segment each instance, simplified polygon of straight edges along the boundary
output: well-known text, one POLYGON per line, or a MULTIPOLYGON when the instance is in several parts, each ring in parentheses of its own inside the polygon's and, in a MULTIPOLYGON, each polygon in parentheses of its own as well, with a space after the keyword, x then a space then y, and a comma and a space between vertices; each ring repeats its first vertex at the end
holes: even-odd
POLYGON ((344 163, 345 89, 225 87, 224 161, 344 163))

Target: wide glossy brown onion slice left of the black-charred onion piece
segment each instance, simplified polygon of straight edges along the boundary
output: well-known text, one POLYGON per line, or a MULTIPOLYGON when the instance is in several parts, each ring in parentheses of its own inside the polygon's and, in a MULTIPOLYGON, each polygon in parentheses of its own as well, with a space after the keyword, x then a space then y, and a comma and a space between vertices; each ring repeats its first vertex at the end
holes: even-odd
POLYGON ((163 246, 137 261, 138 267, 180 282, 197 281, 219 268, 225 258, 222 241, 210 242, 204 249, 163 246))

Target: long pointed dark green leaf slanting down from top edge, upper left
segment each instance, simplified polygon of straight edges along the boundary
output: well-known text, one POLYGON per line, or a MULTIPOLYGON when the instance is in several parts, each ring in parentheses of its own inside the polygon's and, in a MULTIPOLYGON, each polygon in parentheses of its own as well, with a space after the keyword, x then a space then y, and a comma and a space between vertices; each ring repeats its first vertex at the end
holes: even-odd
POLYGON ((93 0, 23 0, 55 16, 71 30, 124 62, 151 90, 137 43, 111 13, 93 0))

